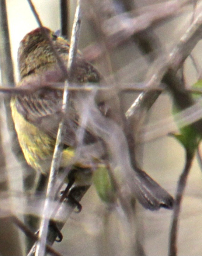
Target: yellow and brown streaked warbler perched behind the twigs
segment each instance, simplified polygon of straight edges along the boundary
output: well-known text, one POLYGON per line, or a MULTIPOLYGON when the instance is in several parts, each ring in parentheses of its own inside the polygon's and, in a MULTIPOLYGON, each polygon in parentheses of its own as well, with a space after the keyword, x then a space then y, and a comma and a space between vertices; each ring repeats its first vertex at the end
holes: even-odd
MULTIPOLYGON (((48 28, 46 31, 52 40, 55 51, 61 60, 67 64, 68 41, 58 37, 48 28)), ((26 34, 20 42, 18 64, 20 82, 17 86, 34 88, 47 82, 64 82, 65 80, 64 73, 40 28, 26 34)), ((83 82, 99 83, 101 78, 102 76, 96 68, 85 61, 82 54, 78 52, 74 82, 80 84, 83 82)), ((12 118, 25 159, 31 167, 44 175, 48 175, 50 170, 58 125, 61 121, 62 96, 62 89, 43 88, 30 93, 15 94, 11 98, 12 118)), ((79 116, 75 110, 75 104, 74 100, 69 103, 70 109, 68 109, 64 120, 65 136, 61 167, 69 166, 75 156, 76 130, 79 127, 79 116)), ((102 112, 102 106, 100 111, 102 112)), ((104 115, 104 111, 102 114, 104 115)), ((85 145, 92 145, 99 141, 101 141, 100 138, 96 138, 87 130, 85 131, 83 138, 85 145)), ((106 152, 100 156, 101 160, 104 159, 104 155, 106 152)), ((79 170, 76 175, 83 179, 84 183, 85 178, 93 176, 94 173, 94 170, 88 166, 88 163, 85 163, 85 160, 74 163, 72 169, 79 170), (86 175, 85 170, 88 170, 90 175, 89 173, 86 175)), ((93 181, 99 196, 105 202, 116 200, 115 188, 110 175, 108 175, 107 167, 102 163, 98 164, 97 169, 99 171, 93 176, 93 181)), ((72 173, 74 174, 74 172, 72 173)), ((136 175, 140 181, 137 184, 137 197, 145 208, 151 210, 160 207, 172 208, 173 198, 167 191, 145 172, 138 170, 136 175)), ((75 177, 75 181, 77 181, 77 177, 75 177)))

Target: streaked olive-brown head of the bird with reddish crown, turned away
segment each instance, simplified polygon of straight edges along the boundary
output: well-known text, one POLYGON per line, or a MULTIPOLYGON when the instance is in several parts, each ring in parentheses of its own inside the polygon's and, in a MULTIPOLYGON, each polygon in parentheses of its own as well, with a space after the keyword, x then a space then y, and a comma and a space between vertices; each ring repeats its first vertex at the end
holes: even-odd
MULTIPOLYGON (((59 55, 68 55, 69 44, 66 40, 48 28, 44 28, 49 35, 54 48, 59 55)), ((26 34, 20 42, 18 49, 18 64, 20 78, 36 73, 39 68, 48 69, 50 65, 56 63, 56 58, 51 50, 50 44, 41 28, 37 28, 26 34)))

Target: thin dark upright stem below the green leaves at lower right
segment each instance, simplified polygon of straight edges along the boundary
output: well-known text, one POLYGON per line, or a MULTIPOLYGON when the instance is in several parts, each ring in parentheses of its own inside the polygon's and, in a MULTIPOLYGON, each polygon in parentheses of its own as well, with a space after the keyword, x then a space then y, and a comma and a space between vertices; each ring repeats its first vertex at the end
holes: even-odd
POLYGON ((181 207, 184 189, 186 186, 187 177, 191 168, 191 164, 193 162, 193 156, 194 156, 193 154, 189 153, 186 150, 186 163, 185 163, 183 173, 181 174, 178 181, 176 200, 174 203, 174 210, 172 215, 170 241, 169 241, 169 256, 177 255, 176 238, 177 238, 177 230, 178 230, 179 213, 180 213, 180 207, 181 207))

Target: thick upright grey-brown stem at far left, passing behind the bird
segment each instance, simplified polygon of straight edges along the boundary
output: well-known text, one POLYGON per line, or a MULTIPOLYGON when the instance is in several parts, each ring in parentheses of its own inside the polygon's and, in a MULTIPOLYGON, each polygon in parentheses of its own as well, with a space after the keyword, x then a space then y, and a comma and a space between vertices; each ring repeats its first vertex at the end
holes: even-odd
MULTIPOLYGON (((13 65, 12 65, 12 56, 10 49, 10 39, 9 39, 9 27, 7 20, 7 12, 6 12, 6 1, 0 0, 0 70, 1 70, 1 78, 2 85, 4 86, 14 86, 14 74, 13 74, 13 65)), ((35 171, 28 166, 26 163, 22 150, 19 146, 19 142, 17 139, 16 131, 14 128, 14 124, 11 116, 10 109, 10 95, 4 96, 4 104, 6 110, 6 121, 9 129, 9 134, 12 141, 12 152, 18 158, 21 163, 22 172, 26 174, 26 178, 23 180, 23 190, 28 191, 34 184, 35 179, 35 171), (29 174, 29 176, 27 176, 29 174)), ((3 152, 1 153, 1 159, 3 159, 3 152)), ((2 168, 3 170, 3 168, 2 168)), ((5 186, 5 184, 4 184, 5 186)), ((3 186, 1 184, 1 189, 3 186)), ((26 224, 30 225, 31 216, 26 215, 24 217, 26 224)), ((32 244, 33 241, 30 238, 26 238, 26 245, 32 244)), ((18 253, 17 253, 18 254, 18 253)))

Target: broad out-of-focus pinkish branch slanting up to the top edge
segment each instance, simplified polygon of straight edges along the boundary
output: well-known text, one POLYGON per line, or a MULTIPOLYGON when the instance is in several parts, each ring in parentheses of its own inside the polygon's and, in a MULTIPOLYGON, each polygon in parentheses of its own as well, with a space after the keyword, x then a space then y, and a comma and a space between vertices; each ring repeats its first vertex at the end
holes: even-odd
POLYGON ((176 14, 187 2, 190 2, 190 0, 180 2, 171 0, 149 5, 139 10, 124 12, 106 19, 101 26, 107 38, 107 45, 114 47, 133 34, 151 27, 152 23, 176 14))

